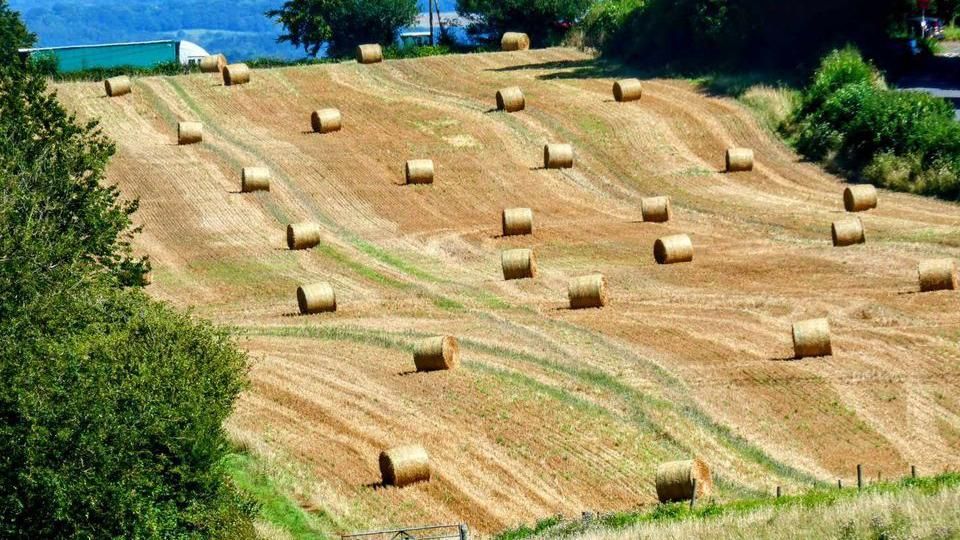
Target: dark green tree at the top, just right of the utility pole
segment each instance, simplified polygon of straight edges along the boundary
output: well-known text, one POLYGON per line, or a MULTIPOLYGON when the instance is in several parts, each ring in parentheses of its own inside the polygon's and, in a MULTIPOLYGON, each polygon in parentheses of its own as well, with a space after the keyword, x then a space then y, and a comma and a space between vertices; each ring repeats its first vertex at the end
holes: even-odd
POLYGON ((474 20, 472 32, 526 32, 536 46, 555 44, 580 20, 593 0, 457 0, 457 11, 474 20))

